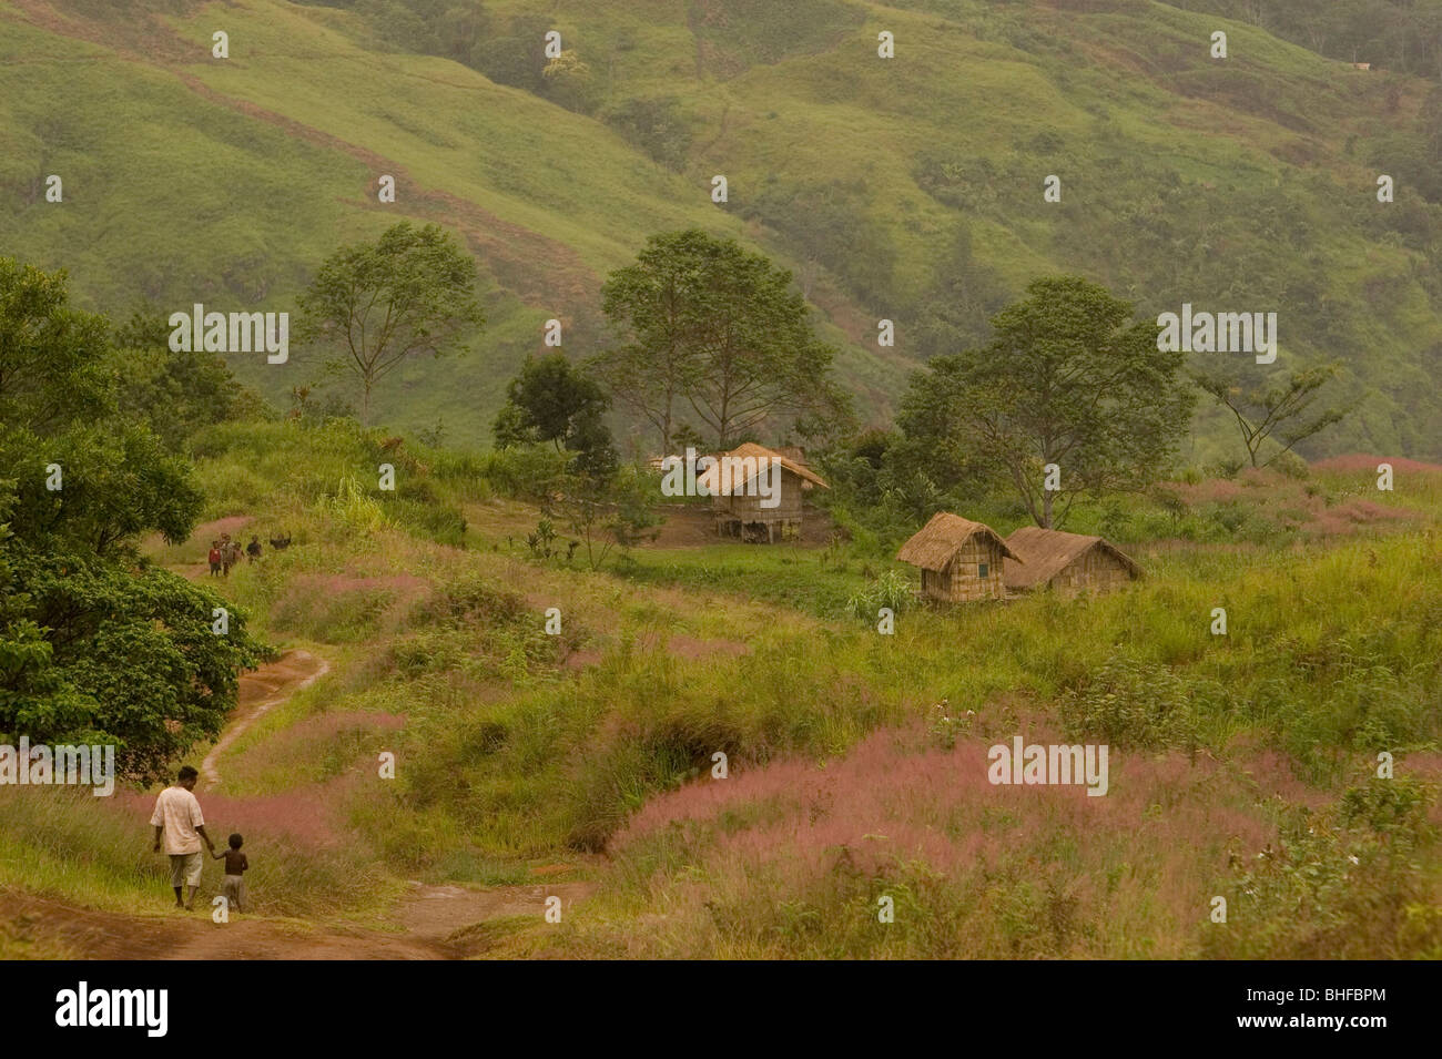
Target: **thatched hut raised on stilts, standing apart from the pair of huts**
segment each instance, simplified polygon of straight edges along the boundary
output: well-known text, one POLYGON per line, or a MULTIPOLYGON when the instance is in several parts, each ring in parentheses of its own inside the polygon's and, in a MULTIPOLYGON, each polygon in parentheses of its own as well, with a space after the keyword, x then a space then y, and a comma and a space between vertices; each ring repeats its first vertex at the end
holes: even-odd
POLYGON ((799 537, 802 494, 831 488, 805 464, 750 441, 712 458, 715 463, 696 475, 696 486, 711 494, 717 533, 741 540, 799 537))

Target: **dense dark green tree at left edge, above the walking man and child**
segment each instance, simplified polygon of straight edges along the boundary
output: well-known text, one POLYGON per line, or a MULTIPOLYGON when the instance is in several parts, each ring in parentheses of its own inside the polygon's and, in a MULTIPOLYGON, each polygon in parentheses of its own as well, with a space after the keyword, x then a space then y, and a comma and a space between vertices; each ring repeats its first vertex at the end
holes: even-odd
POLYGON ((0 261, 0 736, 114 743, 151 779, 219 732, 265 648, 236 608, 216 634, 224 598, 138 555, 143 533, 185 540, 202 497, 117 412, 107 331, 63 272, 0 261))

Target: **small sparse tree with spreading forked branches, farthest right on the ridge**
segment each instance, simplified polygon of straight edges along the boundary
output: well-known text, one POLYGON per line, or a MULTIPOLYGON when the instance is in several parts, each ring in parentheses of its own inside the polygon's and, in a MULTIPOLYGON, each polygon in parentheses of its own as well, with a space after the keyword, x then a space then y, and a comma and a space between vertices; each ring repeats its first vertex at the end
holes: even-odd
POLYGON ((1338 375, 1337 365, 1282 372, 1243 383, 1218 372, 1194 372, 1195 383, 1231 412, 1253 467, 1266 467, 1299 442, 1347 418, 1344 405, 1324 403, 1322 388, 1338 375), (1257 463, 1268 441, 1278 450, 1257 463))

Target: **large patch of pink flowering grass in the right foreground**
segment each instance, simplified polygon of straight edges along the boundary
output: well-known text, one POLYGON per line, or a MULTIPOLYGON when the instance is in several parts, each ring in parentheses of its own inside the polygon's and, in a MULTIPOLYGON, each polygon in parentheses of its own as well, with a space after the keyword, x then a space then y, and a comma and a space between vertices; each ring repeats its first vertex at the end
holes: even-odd
MULTIPOLYGON (((1037 725, 1022 733, 1064 742, 1037 725)), ((632 951, 1197 955, 1210 896, 1278 841, 1273 808, 1302 792, 1280 758, 1247 775, 1122 752, 1105 797, 992 785, 991 742, 942 749, 919 728, 883 730, 825 767, 784 761, 653 798, 613 856, 637 902, 665 902, 695 929, 658 925, 632 951), (878 922, 884 895, 894 924, 878 922)))

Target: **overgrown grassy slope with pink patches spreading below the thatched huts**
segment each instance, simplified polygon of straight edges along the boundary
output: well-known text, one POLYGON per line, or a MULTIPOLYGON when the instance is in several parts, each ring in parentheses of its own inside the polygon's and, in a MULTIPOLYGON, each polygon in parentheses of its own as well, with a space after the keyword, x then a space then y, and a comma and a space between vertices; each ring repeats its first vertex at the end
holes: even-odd
MULTIPOLYGON (((1435 474, 1406 473, 1383 497, 1422 513, 1410 523, 1146 548, 1148 579, 1122 595, 903 609, 881 637, 841 602, 890 566, 858 546, 647 550, 633 575, 536 565, 518 540, 535 516, 492 496, 489 464, 417 451, 394 497, 339 488, 375 444, 275 424, 198 445, 208 517, 296 536, 226 592, 264 634, 333 664, 235 745, 226 795, 208 801, 264 860, 265 915, 372 919, 404 879, 495 885, 561 862, 593 873, 598 896, 562 931, 522 925, 496 951, 1442 945, 1436 813, 1429 824, 1428 803, 1407 801, 1435 784, 1442 736, 1435 474), (470 523, 464 550, 434 539, 447 506, 470 523), (559 637, 541 631, 552 605, 559 637), (1208 634, 1218 605, 1224 638, 1208 634), (1109 742, 1112 795, 982 782, 985 746, 1018 732, 1109 742), (1379 748, 1397 755, 1397 787, 1367 779, 1379 748), (394 782, 375 775, 382 749, 394 782), (734 787, 708 777, 717 749, 734 787), (609 863, 578 857, 603 843, 609 863), (1270 873, 1255 863, 1268 844, 1288 852, 1270 873), (878 892, 906 909, 901 929, 871 926, 878 892), (1214 893, 1244 929, 1207 934, 1214 893)), ((1311 486, 1344 503, 1370 475, 1311 486)), ((1280 507, 1279 488, 1249 487, 1247 503, 1280 507)), ((157 556, 192 565, 202 549, 157 556)), ((7 792, 7 882, 153 903, 146 795, 27 794, 7 792)))

